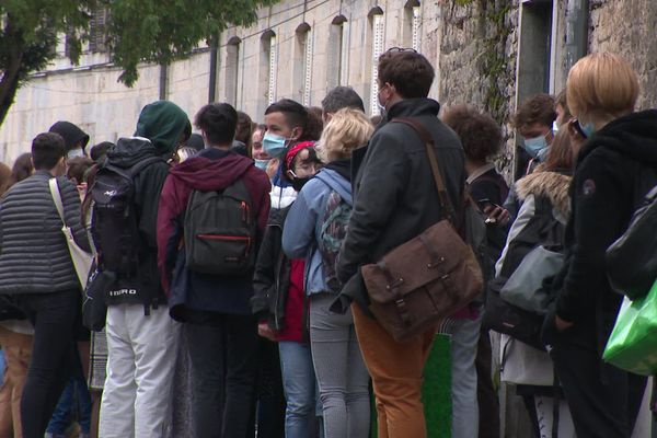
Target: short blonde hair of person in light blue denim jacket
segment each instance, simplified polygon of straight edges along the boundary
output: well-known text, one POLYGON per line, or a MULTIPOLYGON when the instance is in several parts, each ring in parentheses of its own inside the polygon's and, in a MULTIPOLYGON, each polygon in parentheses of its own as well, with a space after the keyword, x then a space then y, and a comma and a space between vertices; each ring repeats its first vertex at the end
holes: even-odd
POLYGON ((351 158, 351 152, 368 142, 374 127, 364 112, 343 108, 324 126, 318 154, 323 162, 351 158))

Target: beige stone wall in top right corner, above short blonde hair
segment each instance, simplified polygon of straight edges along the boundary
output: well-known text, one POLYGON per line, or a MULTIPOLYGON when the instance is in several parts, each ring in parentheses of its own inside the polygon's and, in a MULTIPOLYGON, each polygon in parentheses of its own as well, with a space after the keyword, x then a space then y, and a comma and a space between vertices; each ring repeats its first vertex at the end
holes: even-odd
POLYGON ((637 108, 657 107, 657 1, 591 0, 590 51, 624 57, 638 73, 637 108))

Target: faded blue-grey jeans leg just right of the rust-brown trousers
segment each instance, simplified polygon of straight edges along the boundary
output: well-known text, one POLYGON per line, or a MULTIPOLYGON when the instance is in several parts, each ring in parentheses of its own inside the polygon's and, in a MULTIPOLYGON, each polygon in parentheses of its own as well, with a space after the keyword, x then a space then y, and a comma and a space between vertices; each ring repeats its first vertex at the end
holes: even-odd
POLYGON ((481 316, 456 320, 451 335, 452 358, 452 437, 479 436, 479 403, 476 397, 476 358, 481 316))

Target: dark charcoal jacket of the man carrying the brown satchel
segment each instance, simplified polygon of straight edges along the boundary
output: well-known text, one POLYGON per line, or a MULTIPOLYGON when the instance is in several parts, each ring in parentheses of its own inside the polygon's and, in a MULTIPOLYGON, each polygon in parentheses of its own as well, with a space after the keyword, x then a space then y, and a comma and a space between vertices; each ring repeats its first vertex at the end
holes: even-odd
MULTIPOLYGON (((410 99, 394 104, 388 119, 413 117, 431 132, 447 192, 458 208, 465 184, 463 149, 457 135, 438 119, 439 110, 434 100, 410 99)), ((367 149, 354 151, 353 165, 359 165, 354 170, 354 210, 336 269, 345 287, 334 310, 345 310, 351 299, 367 309, 360 266, 379 261, 443 215, 425 145, 410 126, 379 127, 367 149)))

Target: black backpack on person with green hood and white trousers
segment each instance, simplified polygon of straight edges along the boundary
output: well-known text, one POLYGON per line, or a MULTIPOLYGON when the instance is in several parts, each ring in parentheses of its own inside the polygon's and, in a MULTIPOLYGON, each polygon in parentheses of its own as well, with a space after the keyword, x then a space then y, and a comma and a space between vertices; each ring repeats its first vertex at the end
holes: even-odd
POLYGON ((99 250, 101 270, 110 270, 124 278, 138 274, 143 245, 135 211, 135 176, 155 162, 163 160, 151 157, 128 169, 107 162, 99 169, 91 197, 94 201, 92 235, 99 250))

